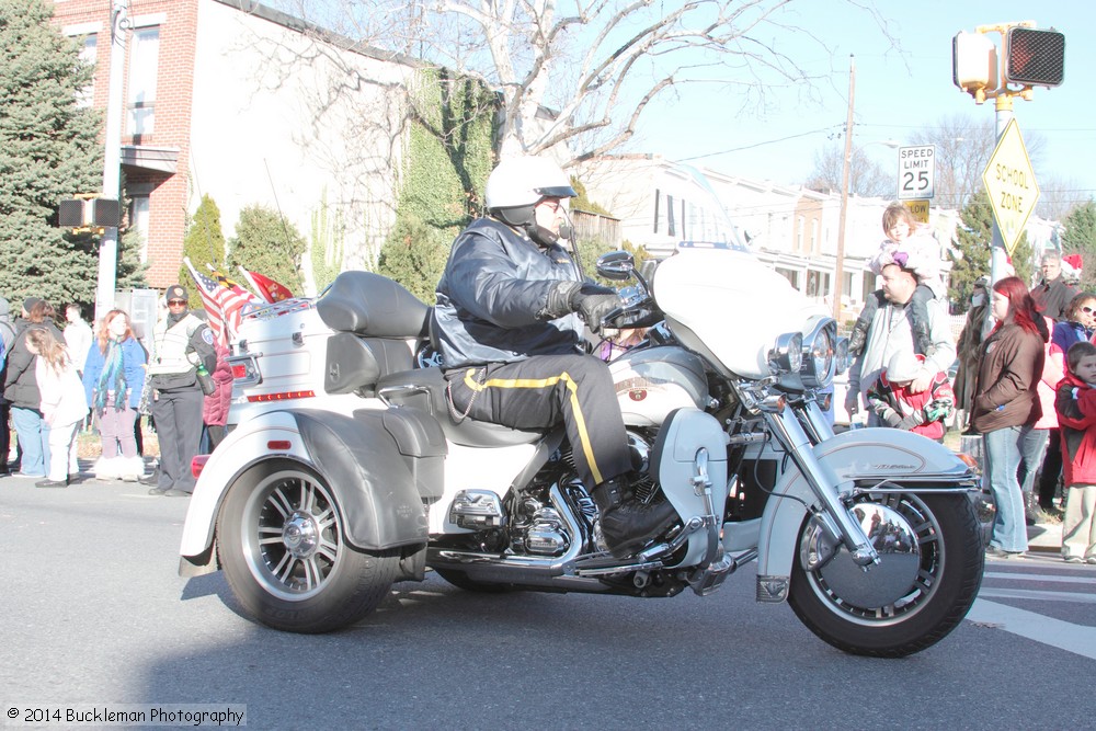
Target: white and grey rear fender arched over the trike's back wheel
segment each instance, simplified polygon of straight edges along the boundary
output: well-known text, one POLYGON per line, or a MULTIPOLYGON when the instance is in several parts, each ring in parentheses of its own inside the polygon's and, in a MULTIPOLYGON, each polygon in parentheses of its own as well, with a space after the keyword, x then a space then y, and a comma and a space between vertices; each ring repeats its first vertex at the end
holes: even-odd
MULTIPOLYGON (((311 468, 334 492, 346 540, 365 550, 426 542, 420 488, 385 429, 384 410, 357 418, 327 411, 274 411, 241 424, 206 462, 194 490, 180 553, 208 563, 217 514, 228 489, 249 469, 270 459, 311 468)), ((444 449, 444 447, 443 447, 444 449)), ((441 486, 423 486, 435 492, 441 486)))

